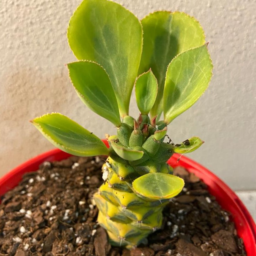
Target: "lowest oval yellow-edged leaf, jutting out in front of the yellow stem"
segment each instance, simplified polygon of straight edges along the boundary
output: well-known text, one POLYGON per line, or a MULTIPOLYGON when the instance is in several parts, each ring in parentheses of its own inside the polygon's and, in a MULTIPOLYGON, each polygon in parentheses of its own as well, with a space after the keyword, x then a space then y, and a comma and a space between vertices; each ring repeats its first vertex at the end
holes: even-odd
POLYGON ((161 172, 145 174, 132 182, 136 194, 153 200, 172 198, 181 192, 183 186, 183 179, 161 172))

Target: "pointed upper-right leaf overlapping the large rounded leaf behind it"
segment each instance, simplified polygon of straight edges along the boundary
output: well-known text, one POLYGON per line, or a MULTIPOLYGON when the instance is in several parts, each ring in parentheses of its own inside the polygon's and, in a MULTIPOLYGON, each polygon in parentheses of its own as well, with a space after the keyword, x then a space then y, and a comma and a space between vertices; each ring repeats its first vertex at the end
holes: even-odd
POLYGON ((183 52, 172 60, 167 69, 163 93, 166 124, 200 98, 210 83, 212 68, 206 44, 183 52))

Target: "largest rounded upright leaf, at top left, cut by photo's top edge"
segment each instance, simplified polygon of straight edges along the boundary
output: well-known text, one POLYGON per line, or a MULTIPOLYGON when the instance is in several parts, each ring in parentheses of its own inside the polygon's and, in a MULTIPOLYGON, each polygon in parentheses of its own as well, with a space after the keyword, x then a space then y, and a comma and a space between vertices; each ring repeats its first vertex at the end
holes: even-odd
POLYGON ((107 0, 84 0, 71 17, 67 37, 78 60, 102 65, 120 114, 128 115, 142 52, 142 27, 134 14, 107 0))

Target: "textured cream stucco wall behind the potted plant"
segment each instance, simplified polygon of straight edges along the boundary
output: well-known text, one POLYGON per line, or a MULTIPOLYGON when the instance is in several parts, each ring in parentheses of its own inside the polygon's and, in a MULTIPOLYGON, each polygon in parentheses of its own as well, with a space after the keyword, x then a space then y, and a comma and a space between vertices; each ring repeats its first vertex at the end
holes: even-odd
MULTIPOLYGON (((233 189, 256 189, 256 1, 116 1, 138 18, 166 9, 200 21, 214 76, 202 98, 173 121, 169 135, 175 143, 200 136, 206 143, 189 157, 233 189)), ((35 116, 58 111, 101 138, 115 133, 78 99, 64 66, 75 60, 66 29, 79 2, 0 0, 0 176, 53 148, 29 123, 35 116)), ((130 114, 137 116, 135 105, 130 114)))

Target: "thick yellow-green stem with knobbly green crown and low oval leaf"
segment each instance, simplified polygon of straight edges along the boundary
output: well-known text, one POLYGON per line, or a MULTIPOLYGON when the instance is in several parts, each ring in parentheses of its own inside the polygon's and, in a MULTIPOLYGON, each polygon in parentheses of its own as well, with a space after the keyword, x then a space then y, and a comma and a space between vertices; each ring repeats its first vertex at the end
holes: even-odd
POLYGON ((108 138, 109 157, 102 167, 105 181, 94 194, 98 223, 115 246, 132 248, 161 228, 162 210, 183 188, 166 161, 174 146, 164 143, 163 122, 127 116, 117 136, 108 138))

